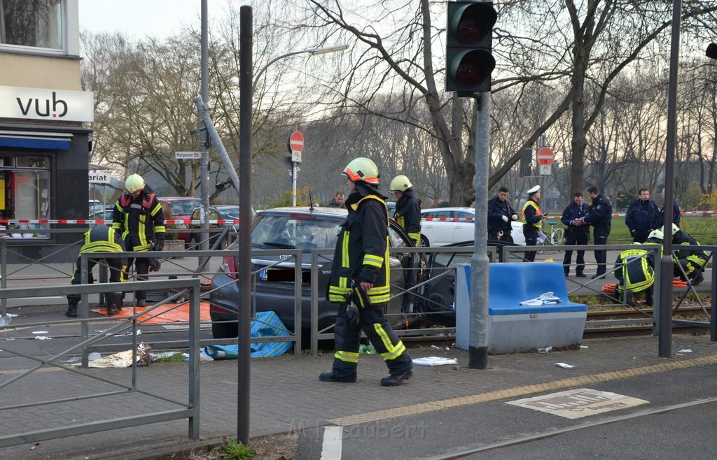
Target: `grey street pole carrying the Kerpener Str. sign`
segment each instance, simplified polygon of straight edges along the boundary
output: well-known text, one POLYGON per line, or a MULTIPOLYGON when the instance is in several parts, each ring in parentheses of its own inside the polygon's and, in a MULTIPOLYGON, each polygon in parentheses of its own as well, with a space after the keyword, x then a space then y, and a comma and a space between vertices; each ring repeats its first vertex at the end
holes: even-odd
MULTIPOLYGON (((209 101, 209 71, 208 71, 208 39, 207 39, 207 12, 206 0, 201 0, 201 99, 209 101)), ((209 132, 206 126, 201 130, 201 159, 199 160, 200 190, 201 190, 201 228, 209 230, 209 132)), ((202 233, 199 248, 209 250, 209 232, 202 233)), ((199 260, 201 264, 201 258, 199 260)))

